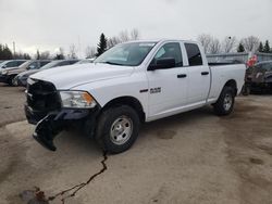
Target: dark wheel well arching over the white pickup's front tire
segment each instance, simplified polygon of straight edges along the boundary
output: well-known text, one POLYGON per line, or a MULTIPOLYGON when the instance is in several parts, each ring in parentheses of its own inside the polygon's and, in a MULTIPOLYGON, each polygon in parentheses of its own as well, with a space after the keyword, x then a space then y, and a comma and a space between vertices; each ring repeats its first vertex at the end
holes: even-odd
POLYGON ((140 122, 144 123, 146 120, 146 114, 144 112, 143 105, 134 97, 120 97, 120 98, 113 99, 102 107, 102 111, 109 107, 119 106, 119 105, 128 105, 133 107, 138 113, 140 122))

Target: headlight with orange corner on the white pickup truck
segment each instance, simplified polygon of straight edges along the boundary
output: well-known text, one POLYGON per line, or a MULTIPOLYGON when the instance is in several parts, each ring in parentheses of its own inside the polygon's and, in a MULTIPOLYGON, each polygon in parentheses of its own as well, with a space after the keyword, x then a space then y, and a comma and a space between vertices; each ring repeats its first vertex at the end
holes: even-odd
POLYGON ((63 107, 91 109, 97 104, 86 91, 60 91, 60 95, 63 107))

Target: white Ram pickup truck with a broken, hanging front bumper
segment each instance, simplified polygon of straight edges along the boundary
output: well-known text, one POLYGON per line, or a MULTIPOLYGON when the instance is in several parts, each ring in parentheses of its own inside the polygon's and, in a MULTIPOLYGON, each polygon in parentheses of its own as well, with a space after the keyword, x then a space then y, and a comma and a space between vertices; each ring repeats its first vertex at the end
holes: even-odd
POLYGON ((141 123, 212 104, 233 111, 244 64, 208 64, 197 42, 121 43, 92 64, 48 69, 28 78, 25 113, 34 138, 54 151, 54 137, 78 124, 107 152, 129 149, 141 123))

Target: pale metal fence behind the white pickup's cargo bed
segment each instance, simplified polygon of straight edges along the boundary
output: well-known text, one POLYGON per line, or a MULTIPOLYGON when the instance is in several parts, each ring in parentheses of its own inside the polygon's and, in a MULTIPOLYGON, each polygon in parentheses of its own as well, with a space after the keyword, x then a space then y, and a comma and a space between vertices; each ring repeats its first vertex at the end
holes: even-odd
POLYGON ((246 63, 252 55, 257 55, 258 62, 272 61, 272 54, 269 53, 252 53, 252 52, 242 52, 242 53, 223 53, 223 54, 207 54, 208 62, 224 62, 224 61, 240 61, 246 63))

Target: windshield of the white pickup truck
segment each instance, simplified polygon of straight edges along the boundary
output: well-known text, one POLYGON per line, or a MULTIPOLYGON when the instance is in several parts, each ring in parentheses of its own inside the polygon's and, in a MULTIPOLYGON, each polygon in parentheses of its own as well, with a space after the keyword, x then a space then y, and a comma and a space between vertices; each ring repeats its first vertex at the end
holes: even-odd
POLYGON ((138 66, 154 44, 156 42, 128 42, 118 44, 98 56, 95 63, 138 66))

